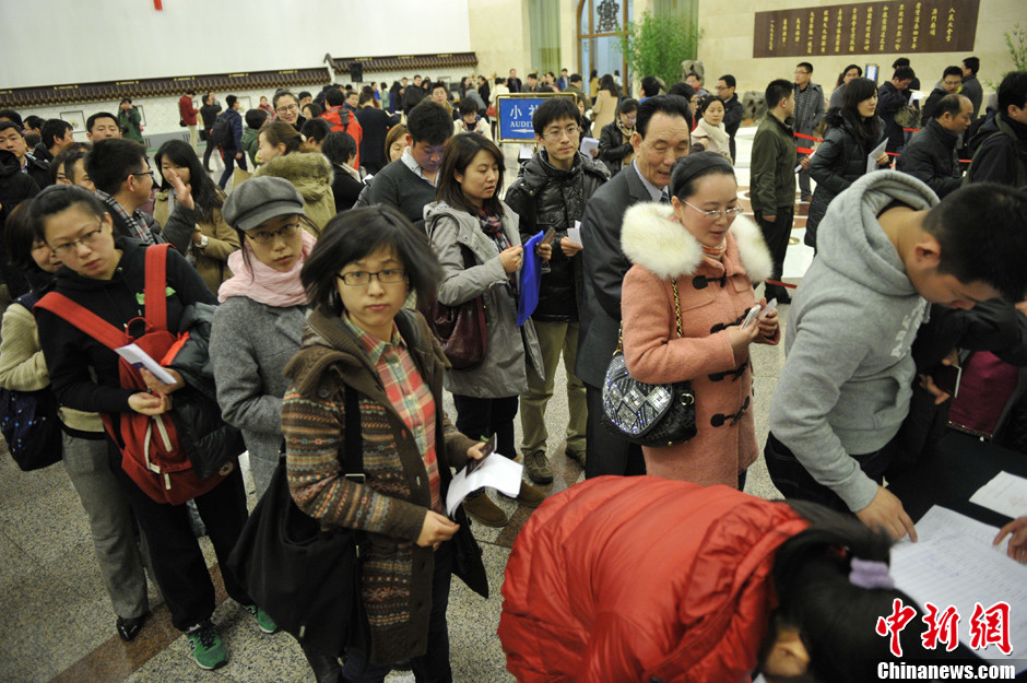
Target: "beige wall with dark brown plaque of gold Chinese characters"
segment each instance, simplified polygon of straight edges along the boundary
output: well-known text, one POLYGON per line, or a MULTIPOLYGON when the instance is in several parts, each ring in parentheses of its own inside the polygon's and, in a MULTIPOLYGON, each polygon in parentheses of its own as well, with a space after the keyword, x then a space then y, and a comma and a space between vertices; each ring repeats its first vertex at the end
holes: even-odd
POLYGON ((979 78, 998 83, 1013 69, 1004 33, 1017 22, 1027 25, 1023 0, 699 0, 699 59, 708 83, 731 73, 742 92, 791 80, 795 64, 808 61, 829 95, 849 63, 880 64, 881 82, 896 58, 908 57, 930 92, 945 67, 970 55, 981 60, 979 78))

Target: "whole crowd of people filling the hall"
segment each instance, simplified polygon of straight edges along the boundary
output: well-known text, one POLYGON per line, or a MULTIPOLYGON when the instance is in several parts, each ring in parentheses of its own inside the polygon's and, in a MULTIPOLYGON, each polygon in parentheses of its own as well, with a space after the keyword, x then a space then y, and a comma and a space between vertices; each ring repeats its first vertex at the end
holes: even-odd
MULTIPOLYGON (((260 631, 278 628, 227 570, 247 520, 235 458, 194 482, 188 503, 155 498, 135 471, 138 435, 125 425, 144 416, 150 438, 205 392, 240 432, 258 496, 284 458, 304 513, 367 533, 367 638, 338 652, 300 639, 317 680, 381 681, 404 662, 417 680, 451 680, 446 608, 468 562, 457 541, 474 543, 468 516, 509 522, 485 490, 448 517, 452 473, 494 436, 499 456, 524 464, 516 499, 545 503, 546 408, 563 363, 563 449, 597 481, 554 496, 515 545, 499 629, 511 672, 867 680, 865 661, 887 657, 866 656, 885 645, 873 624, 902 597, 888 546, 917 538, 882 484, 940 437, 911 436, 923 429, 917 411, 944 426, 952 407, 960 428, 1000 443, 1010 415, 1027 413, 1027 73, 1006 75, 978 118, 978 68, 967 58, 945 69, 922 106, 908 60, 880 87, 851 66, 829 98, 808 62, 770 81, 753 220, 733 166, 742 105, 731 74, 716 94, 701 73, 670 86, 647 75, 637 98, 618 73, 593 72, 588 94, 566 69, 457 89, 415 75, 389 89, 278 91, 248 111, 214 93, 197 108, 187 92, 189 142, 162 144, 152 164, 128 98, 88 118, 88 143, 51 119, 29 145, 34 121, 0 109, 0 387, 49 387, 59 402, 64 469, 120 637, 150 616, 149 570, 197 663, 226 661, 193 508, 228 596, 260 631), (536 151, 504 191, 496 95, 556 91, 575 97, 534 109, 536 151), (583 154, 592 130, 599 145, 583 154), (216 182, 212 154, 224 162, 216 182), (781 278, 796 189, 816 257, 792 296, 781 278), (538 303, 519 319, 529 296, 538 303), (56 301, 125 335, 156 326, 180 337, 156 358, 167 375, 126 369, 108 338, 56 301), (482 354, 458 364, 414 303, 473 302, 482 354), (775 302, 791 304, 786 330, 775 302), (987 342, 971 334, 982 320, 987 342), (937 339, 944 357, 918 355, 937 339), (760 455, 749 350, 782 341, 764 457, 788 503, 744 494, 760 455), (615 354, 639 382, 688 384, 693 436, 644 446, 610 431, 615 354), (932 376, 957 360, 964 376, 1004 372, 1008 390, 954 403, 932 376), (359 414, 347 420, 351 391, 359 414), (363 443, 358 480, 339 460, 347 427, 363 443), (715 575, 735 584, 711 586, 715 575), (677 610, 685 601, 701 607, 677 610), (823 626, 855 602, 845 629, 823 626), (839 657, 853 638, 860 661, 839 657)), ((1010 553, 1027 558, 1027 522, 1006 532, 1010 553)))

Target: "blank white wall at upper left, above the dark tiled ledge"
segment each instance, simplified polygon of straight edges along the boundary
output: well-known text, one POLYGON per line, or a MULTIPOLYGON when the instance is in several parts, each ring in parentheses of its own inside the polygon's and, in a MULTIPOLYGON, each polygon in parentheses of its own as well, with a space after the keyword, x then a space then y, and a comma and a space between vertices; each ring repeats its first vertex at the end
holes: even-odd
POLYGON ((468 2, 172 0, 157 11, 152 0, 33 0, 26 14, 0 1, 0 26, 22 27, 0 40, 0 87, 304 69, 326 52, 470 51, 468 2), (31 16, 60 17, 48 22, 42 52, 31 16))

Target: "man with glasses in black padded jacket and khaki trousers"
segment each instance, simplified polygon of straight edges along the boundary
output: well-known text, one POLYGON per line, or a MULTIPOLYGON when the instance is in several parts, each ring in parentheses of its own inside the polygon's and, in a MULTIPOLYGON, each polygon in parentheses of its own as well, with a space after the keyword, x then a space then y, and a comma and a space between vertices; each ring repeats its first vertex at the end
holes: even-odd
POLYGON ((591 157, 578 152, 581 114, 569 97, 548 97, 531 117, 535 140, 542 149, 523 166, 506 193, 506 203, 520 216, 521 239, 539 231, 555 231, 550 270, 542 274, 539 306, 534 321, 545 379, 529 373, 528 391, 521 397, 521 452, 528 476, 536 484, 553 481, 545 445, 545 407, 553 396, 556 364, 564 356, 567 370, 566 455, 585 466, 586 407, 585 385, 575 377, 578 355, 578 320, 581 303, 581 245, 567 236, 567 231, 581 220, 585 202, 592 197, 610 174, 591 157))

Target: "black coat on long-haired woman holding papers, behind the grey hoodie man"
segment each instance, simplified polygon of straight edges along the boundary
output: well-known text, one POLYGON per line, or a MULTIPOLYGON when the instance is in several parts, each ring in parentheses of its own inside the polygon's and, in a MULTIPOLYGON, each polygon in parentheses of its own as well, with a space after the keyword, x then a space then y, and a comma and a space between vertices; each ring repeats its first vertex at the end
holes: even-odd
POLYGON ((870 146, 860 143, 855 131, 855 116, 842 109, 828 117, 824 142, 810 161, 810 177, 816 180, 810 216, 806 219, 805 242, 816 248, 816 226, 827 212, 827 204, 860 176, 866 173, 866 155, 885 137, 885 123, 877 119, 877 140, 870 146))

